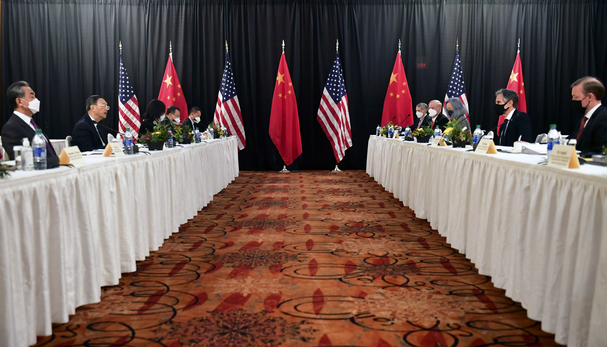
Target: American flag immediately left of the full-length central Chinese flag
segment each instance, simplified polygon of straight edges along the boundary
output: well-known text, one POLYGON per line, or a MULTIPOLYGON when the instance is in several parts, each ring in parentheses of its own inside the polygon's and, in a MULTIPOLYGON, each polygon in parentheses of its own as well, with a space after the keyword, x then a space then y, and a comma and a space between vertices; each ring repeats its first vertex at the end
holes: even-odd
POLYGON ((230 135, 237 136, 239 150, 245 148, 245 127, 242 126, 240 104, 236 95, 234 73, 232 73, 232 64, 228 53, 226 53, 226 66, 223 69, 222 86, 219 89, 219 96, 217 96, 217 106, 215 106, 213 121, 215 124, 226 126, 230 135))

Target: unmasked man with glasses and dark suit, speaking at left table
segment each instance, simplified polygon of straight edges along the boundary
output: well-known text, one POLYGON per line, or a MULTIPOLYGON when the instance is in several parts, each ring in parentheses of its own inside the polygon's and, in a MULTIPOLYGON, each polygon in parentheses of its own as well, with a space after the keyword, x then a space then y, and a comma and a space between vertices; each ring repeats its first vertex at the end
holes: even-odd
POLYGON ((106 147, 107 134, 97 123, 106 119, 109 108, 107 101, 100 95, 91 95, 86 99, 86 115, 80 118, 72 130, 72 144, 78 146, 80 152, 106 147))

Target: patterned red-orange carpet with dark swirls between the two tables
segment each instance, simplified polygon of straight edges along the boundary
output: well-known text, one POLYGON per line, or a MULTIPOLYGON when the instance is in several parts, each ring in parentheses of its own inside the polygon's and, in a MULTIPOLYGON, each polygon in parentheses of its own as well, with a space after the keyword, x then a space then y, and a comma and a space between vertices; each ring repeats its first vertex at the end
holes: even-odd
POLYGON ((37 346, 557 346, 363 171, 240 172, 37 346))

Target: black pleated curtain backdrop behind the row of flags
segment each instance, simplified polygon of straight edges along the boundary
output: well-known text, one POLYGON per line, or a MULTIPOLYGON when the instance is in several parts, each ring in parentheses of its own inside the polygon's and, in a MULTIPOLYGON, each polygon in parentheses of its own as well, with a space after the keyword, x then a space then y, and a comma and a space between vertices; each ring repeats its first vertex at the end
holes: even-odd
POLYGON ((158 96, 172 41, 188 106, 203 110, 206 125, 228 40, 246 132, 240 168, 277 170, 282 160, 268 125, 284 39, 303 146, 290 168, 331 169, 316 112, 339 39, 353 134, 340 167, 364 169, 398 39, 415 105, 444 99, 456 38, 470 120, 483 129, 497 125, 493 93, 506 87, 518 38, 534 134, 551 123, 571 133, 580 116, 571 112, 569 85, 586 75, 607 79, 607 5, 600 0, 4 0, 1 124, 12 112, 6 89, 23 79, 41 99, 35 120, 52 138, 70 135, 93 94, 107 99, 103 123, 116 128, 121 40, 141 113, 158 96))

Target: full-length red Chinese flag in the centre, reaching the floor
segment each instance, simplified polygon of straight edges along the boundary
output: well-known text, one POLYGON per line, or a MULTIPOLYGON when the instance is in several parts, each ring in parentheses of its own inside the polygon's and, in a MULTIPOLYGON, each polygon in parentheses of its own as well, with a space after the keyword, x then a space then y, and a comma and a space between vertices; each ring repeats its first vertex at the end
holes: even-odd
POLYGON ((297 101, 291 83, 291 75, 285 60, 285 52, 280 56, 272 112, 270 113, 270 138, 276 145, 285 165, 293 163, 302 153, 302 139, 299 135, 299 115, 297 101))

